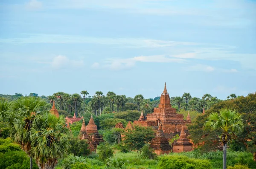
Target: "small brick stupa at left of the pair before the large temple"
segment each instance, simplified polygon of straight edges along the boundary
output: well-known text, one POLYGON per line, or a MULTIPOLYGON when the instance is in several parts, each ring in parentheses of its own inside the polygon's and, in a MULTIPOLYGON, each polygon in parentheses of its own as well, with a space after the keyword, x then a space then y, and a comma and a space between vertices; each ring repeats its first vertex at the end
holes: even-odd
POLYGON ((164 136, 162 123, 160 123, 156 137, 151 141, 150 147, 155 150, 157 155, 169 154, 172 150, 172 147, 169 145, 169 140, 164 136))

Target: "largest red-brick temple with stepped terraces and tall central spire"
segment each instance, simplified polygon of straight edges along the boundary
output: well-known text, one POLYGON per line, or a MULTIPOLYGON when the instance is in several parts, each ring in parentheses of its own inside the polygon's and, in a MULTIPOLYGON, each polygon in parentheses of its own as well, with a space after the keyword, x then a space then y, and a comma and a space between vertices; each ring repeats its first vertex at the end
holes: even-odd
POLYGON ((160 123, 162 123, 163 133, 166 138, 172 138, 175 132, 181 132, 182 126, 191 123, 189 118, 184 120, 184 116, 177 114, 176 109, 172 108, 166 83, 158 107, 154 108, 153 113, 146 115, 145 120, 142 117, 144 116, 141 115, 139 120, 134 120, 134 125, 152 126, 153 129, 157 130, 160 123))

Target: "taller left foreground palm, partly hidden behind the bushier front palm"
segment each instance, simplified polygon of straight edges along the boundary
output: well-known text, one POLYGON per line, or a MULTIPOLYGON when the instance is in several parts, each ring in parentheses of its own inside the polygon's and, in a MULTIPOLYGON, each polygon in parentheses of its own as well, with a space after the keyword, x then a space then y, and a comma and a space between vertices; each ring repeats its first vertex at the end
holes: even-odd
MULTIPOLYGON (((38 112, 41 106, 44 106, 45 102, 40 97, 20 97, 13 103, 13 111, 20 115, 22 121, 20 122, 20 128, 11 128, 10 136, 12 139, 20 145, 20 148, 26 152, 30 157, 30 169, 32 169, 32 154, 30 130, 35 120, 36 112, 38 112)), ((12 125, 12 123, 10 123, 12 125)))

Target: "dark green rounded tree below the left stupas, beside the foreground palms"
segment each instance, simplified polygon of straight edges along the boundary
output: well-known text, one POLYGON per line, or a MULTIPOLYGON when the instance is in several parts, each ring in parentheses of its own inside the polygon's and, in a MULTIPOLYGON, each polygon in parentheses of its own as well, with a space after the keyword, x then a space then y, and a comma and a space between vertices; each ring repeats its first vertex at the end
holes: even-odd
POLYGON ((90 154, 89 144, 87 140, 80 140, 79 138, 73 138, 70 140, 70 148, 68 153, 74 154, 75 156, 85 156, 90 154))

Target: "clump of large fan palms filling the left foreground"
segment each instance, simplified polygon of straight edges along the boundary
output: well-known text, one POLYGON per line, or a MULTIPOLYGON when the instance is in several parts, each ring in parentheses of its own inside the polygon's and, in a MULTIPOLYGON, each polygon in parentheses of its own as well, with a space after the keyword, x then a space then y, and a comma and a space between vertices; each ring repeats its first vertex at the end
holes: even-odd
POLYGON ((39 169, 54 169, 67 154, 72 132, 65 127, 64 116, 39 112, 45 102, 39 97, 20 97, 10 102, 0 98, 0 122, 10 127, 10 137, 35 159, 39 169))

